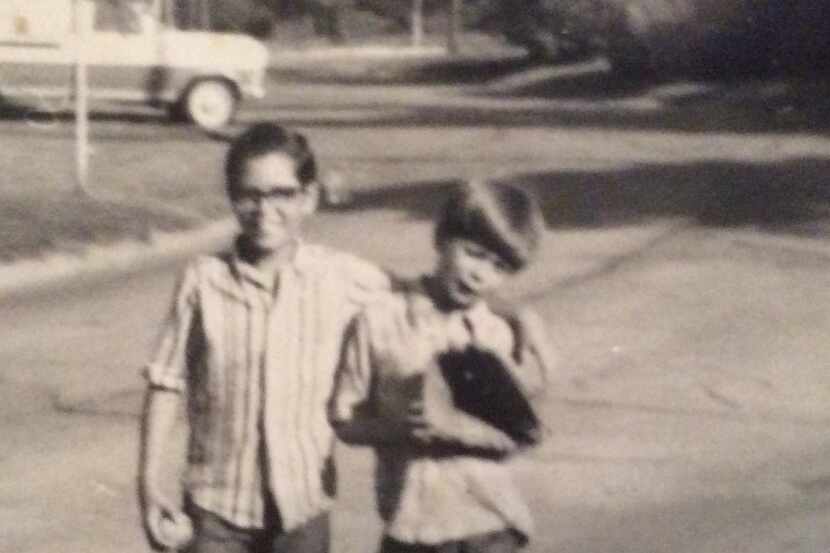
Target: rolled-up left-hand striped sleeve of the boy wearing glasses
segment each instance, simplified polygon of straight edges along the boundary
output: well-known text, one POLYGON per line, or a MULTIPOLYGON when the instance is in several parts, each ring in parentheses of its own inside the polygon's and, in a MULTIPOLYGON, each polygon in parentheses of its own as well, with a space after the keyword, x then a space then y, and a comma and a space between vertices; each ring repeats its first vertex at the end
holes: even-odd
POLYGON ((188 358, 193 352, 196 319, 196 268, 190 265, 180 275, 167 317, 162 324, 155 355, 144 367, 148 384, 155 388, 183 392, 188 358))

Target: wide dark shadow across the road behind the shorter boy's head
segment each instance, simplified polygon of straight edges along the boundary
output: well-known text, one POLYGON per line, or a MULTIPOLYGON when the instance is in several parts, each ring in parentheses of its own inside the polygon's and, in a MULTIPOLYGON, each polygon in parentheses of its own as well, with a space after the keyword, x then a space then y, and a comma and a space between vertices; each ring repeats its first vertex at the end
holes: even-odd
MULTIPOLYGON (((551 228, 613 227, 683 217, 703 226, 752 226, 818 236, 830 231, 827 174, 830 161, 802 159, 527 173, 512 180, 536 194, 551 228)), ((409 183, 357 192, 347 209, 394 209, 431 219, 453 184, 409 183)))

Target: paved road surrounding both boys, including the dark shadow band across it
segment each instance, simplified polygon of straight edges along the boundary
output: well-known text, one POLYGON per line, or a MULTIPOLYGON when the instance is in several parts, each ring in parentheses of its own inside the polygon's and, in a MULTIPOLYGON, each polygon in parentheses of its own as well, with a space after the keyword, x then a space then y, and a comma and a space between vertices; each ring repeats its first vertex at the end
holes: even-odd
MULTIPOLYGON (((830 550, 830 256, 809 201, 826 139, 619 116, 578 127, 531 111, 508 124, 461 107, 438 132, 411 107, 355 124, 289 92, 265 113, 307 129, 364 192, 357 209, 322 215, 310 229, 320 240, 415 272, 431 260, 427 220, 445 179, 510 172, 540 192, 551 233, 512 293, 548 321, 563 365, 545 406, 551 439, 520 466, 539 522, 532 553, 830 550), (379 183, 407 186, 373 192, 379 183)), ((104 147, 200 139, 99 123, 104 147)), ((0 553, 145 551, 137 370, 175 266, 0 302, 0 553)), ((367 456, 343 449, 340 461, 336 551, 371 550, 367 456)))

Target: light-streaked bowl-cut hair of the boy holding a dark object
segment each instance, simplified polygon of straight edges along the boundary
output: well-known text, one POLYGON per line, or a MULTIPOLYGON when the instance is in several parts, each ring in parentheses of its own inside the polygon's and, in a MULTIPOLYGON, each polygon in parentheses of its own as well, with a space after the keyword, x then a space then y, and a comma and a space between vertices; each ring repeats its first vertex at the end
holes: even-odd
POLYGON ((458 186, 435 225, 435 244, 460 238, 498 255, 513 271, 532 261, 544 229, 538 202, 509 183, 471 181, 458 186))

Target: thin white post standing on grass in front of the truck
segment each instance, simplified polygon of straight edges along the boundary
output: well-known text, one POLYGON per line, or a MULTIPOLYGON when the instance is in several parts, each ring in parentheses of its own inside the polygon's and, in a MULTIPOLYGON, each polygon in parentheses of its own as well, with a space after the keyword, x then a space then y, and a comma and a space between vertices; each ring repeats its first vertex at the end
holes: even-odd
POLYGON ((85 0, 75 0, 75 162, 78 191, 86 192, 89 176, 89 86, 86 42, 89 17, 85 0))

